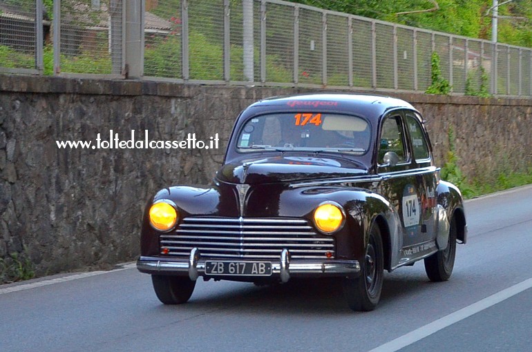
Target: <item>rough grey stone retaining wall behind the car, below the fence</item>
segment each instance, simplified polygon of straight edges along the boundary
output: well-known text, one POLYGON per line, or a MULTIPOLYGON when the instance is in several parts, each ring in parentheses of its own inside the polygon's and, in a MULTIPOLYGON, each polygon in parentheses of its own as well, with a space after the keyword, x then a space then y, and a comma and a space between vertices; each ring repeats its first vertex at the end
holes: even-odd
MULTIPOLYGON (((111 266, 139 252, 146 201, 170 184, 208 184, 238 113, 310 90, 0 75, 0 257, 27 248, 38 274, 111 266), (151 140, 207 140, 209 150, 59 149, 109 130, 151 140)), ((468 177, 532 166, 532 101, 392 94, 428 120, 437 162, 457 136, 468 177)))

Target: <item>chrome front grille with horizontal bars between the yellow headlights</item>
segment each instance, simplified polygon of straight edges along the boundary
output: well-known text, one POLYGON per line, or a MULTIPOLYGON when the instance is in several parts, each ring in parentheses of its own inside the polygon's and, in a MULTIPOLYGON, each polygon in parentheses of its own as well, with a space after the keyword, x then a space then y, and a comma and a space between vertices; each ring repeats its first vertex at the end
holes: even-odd
POLYGON ((161 254, 202 258, 278 260, 286 248, 292 258, 334 258, 334 238, 314 231, 305 219, 187 217, 175 232, 160 235, 161 254))

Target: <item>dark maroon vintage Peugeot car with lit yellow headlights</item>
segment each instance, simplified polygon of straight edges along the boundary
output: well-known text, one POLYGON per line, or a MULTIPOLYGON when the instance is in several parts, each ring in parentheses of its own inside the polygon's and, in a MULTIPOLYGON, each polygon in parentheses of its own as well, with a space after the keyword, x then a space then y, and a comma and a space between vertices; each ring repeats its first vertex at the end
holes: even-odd
POLYGON ((147 204, 137 268, 164 304, 187 302, 198 277, 337 277, 350 308, 370 311, 384 270, 424 260, 430 280, 448 280, 466 228, 406 101, 272 98, 240 114, 211 186, 170 186, 147 204))

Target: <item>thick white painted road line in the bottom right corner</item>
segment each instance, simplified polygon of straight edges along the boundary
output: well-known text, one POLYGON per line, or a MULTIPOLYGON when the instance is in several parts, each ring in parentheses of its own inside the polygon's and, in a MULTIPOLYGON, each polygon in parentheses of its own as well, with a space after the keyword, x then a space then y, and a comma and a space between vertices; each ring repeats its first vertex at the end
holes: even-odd
POLYGON ((489 297, 486 297, 484 298, 484 300, 479 300, 478 302, 466 306, 465 308, 462 308, 459 311, 455 311, 455 313, 450 313, 449 315, 446 315, 441 319, 435 320, 434 322, 431 322, 430 324, 427 324, 425 326, 421 326, 419 329, 411 331, 406 335, 402 335, 395 340, 387 342, 386 344, 382 344, 381 346, 372 349, 369 352, 399 351, 403 347, 406 347, 410 344, 413 344, 414 342, 426 338, 428 335, 432 335, 433 333, 436 333, 437 331, 440 331, 441 329, 444 329, 447 326, 455 324, 460 320, 464 320, 466 319, 466 317, 470 317, 471 315, 478 313, 479 311, 484 311, 484 309, 487 309, 497 303, 507 300, 508 298, 517 295, 517 293, 521 293, 522 291, 530 289, 531 287, 532 278, 524 280, 523 282, 515 284, 509 287, 508 289, 504 289, 489 297))

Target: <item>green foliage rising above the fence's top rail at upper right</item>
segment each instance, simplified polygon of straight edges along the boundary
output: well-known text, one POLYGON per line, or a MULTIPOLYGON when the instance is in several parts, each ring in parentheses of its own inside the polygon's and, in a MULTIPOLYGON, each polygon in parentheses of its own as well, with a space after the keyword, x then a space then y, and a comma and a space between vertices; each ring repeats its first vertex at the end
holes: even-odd
MULTIPOLYGON (((491 39, 492 0, 437 0, 439 9, 432 12, 397 14, 434 8, 428 0, 292 0, 328 10, 348 12, 407 26, 437 30, 479 39, 491 39)), ((502 1, 500 1, 501 3, 502 1)), ((532 0, 519 0, 499 7, 502 16, 525 19, 500 19, 498 39, 502 43, 532 48, 532 0)))

